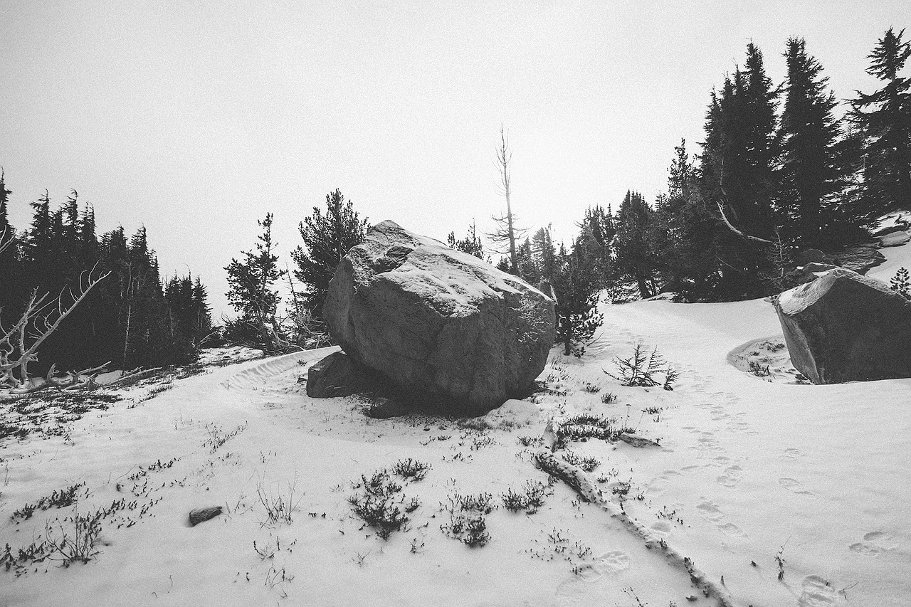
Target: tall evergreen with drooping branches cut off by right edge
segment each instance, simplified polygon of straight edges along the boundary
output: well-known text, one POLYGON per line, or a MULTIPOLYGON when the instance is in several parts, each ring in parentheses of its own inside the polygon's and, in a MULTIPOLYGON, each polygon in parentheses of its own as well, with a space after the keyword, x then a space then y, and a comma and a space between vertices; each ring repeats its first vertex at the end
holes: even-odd
POLYGON ((867 138, 864 163, 864 210, 878 216, 911 201, 911 78, 899 76, 911 57, 905 30, 892 27, 876 43, 866 72, 884 85, 867 95, 856 91, 852 117, 867 138))

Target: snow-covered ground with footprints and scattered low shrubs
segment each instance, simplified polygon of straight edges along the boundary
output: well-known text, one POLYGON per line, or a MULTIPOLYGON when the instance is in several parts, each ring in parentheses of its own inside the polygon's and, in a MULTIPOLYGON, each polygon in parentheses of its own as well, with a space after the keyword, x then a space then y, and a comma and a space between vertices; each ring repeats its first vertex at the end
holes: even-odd
MULTIPOLYGON (((911 247, 884 253, 871 275, 911 267, 911 247)), ((74 516, 100 510, 100 551, 70 567, 16 561, 0 572, 0 604, 911 600, 911 380, 807 386, 747 373, 751 356, 758 365, 780 355, 781 329, 762 300, 603 312, 581 360, 555 350, 541 376, 548 390, 483 422, 376 420, 357 398, 309 399, 302 379, 322 350, 125 390, 106 409, 58 421, 62 432, 6 437, 0 546, 15 560, 48 533, 58 544, 74 537, 74 516), (611 360, 639 343, 681 372, 673 391, 623 387, 603 372, 616 374, 611 360), (508 489, 547 483, 534 454, 578 413, 617 417, 660 446, 572 442, 556 456, 599 462, 587 475, 596 503, 560 481, 536 512, 508 511, 508 489), (417 501, 404 530, 383 540, 349 499, 363 498, 362 475, 409 458, 431 468, 422 480, 390 471, 400 509, 417 501), (73 505, 41 509, 74 485, 73 505), (496 507, 484 517, 489 540, 470 547, 452 537, 450 504, 485 493, 496 507), (290 521, 269 520, 265 504, 277 499, 293 506, 290 521), (39 506, 26 519, 28 504, 39 506), (223 514, 189 527, 189 510, 206 506, 223 514), (705 574, 711 598, 690 571, 705 574)), ((795 376, 786 361, 770 363, 795 376)))

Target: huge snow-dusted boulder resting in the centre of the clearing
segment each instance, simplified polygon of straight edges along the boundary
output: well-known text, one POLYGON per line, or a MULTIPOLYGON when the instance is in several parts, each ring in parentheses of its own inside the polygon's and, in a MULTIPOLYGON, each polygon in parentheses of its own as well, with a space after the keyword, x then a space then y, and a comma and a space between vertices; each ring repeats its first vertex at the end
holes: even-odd
POLYGON ((393 221, 339 263, 323 316, 356 362, 418 401, 466 413, 524 395, 555 335, 547 295, 393 221))

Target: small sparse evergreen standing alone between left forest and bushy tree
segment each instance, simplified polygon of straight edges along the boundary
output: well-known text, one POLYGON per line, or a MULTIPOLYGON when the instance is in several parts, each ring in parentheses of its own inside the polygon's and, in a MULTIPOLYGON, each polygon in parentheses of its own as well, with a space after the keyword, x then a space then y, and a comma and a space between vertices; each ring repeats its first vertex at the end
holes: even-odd
POLYGON ((228 303, 241 315, 259 326, 275 324, 279 295, 273 289, 275 281, 284 275, 278 267, 278 255, 272 251, 272 214, 257 221, 262 234, 257 237, 255 251, 243 252, 244 261, 231 259, 225 267, 228 271, 228 303))

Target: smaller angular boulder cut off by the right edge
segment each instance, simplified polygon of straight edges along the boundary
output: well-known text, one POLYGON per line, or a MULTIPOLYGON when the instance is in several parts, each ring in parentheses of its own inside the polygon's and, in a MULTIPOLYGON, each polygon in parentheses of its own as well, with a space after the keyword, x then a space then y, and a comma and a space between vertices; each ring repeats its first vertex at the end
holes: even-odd
POLYGON ((814 384, 911 377, 911 301, 843 268, 775 304, 791 362, 814 384))

